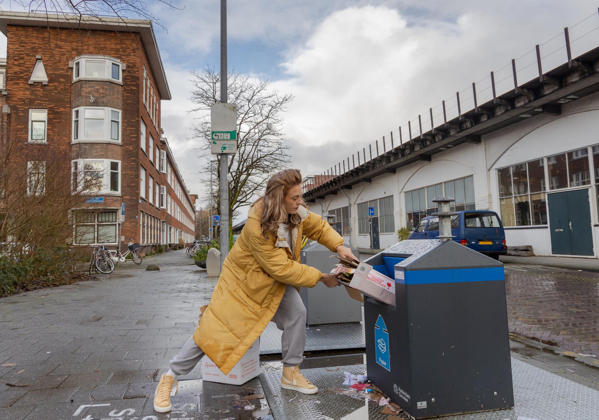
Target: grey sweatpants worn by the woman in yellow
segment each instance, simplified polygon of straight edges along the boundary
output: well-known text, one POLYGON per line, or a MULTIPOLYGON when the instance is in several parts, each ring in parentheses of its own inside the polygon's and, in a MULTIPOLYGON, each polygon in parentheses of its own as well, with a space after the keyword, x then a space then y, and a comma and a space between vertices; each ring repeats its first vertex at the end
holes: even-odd
MULTIPOLYGON (((274 314, 273 321, 277 328, 283 331, 281 337, 281 352, 283 366, 293 367, 300 364, 304 358, 305 349, 305 306, 294 286, 287 286, 285 294, 274 314)), ((204 352, 189 338, 173 360, 171 370, 179 375, 187 375, 199 363, 204 352)))

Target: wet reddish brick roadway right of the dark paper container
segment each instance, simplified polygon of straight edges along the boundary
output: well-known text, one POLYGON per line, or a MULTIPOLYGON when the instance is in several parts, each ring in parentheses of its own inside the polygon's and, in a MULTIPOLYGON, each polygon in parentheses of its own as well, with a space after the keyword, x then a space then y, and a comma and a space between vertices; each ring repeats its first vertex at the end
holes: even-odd
POLYGON ((506 265, 510 332, 599 356, 599 274, 506 265))

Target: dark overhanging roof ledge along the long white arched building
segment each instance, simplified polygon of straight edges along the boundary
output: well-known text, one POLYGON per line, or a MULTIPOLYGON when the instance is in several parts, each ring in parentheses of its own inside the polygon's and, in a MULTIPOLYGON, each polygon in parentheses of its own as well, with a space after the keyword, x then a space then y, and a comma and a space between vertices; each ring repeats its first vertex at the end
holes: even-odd
POLYGON ((522 119, 539 114, 558 115, 562 104, 597 91, 599 47, 310 189, 303 195, 304 200, 322 199, 340 188, 371 182, 376 176, 411 163, 430 161, 432 155, 462 143, 480 143, 483 134, 522 119))

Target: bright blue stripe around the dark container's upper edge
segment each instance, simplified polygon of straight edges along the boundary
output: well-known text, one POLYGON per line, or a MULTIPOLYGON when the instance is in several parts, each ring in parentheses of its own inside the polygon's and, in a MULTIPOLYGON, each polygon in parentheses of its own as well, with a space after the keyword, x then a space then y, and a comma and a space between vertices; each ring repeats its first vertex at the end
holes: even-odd
POLYGON ((401 284, 462 283, 467 281, 504 281, 503 267, 460 268, 446 270, 404 271, 401 284))

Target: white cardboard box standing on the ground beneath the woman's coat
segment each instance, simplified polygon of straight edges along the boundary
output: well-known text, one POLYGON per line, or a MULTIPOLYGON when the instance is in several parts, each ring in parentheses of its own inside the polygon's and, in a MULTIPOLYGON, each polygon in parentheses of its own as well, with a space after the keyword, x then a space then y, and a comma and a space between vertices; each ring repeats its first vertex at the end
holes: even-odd
POLYGON ((229 375, 220 372, 208 356, 202 357, 202 381, 220 384, 241 385, 260 374, 260 338, 258 338, 241 360, 235 364, 229 375))

